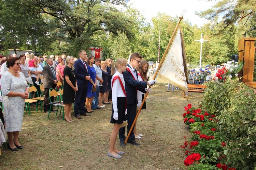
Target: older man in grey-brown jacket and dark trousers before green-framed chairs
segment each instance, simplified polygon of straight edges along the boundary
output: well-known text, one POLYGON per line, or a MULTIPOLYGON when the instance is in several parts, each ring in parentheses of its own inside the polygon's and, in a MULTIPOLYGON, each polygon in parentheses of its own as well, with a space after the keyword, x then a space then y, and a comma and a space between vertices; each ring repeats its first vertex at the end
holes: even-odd
MULTIPOLYGON (((57 78, 56 78, 56 70, 52 67, 53 65, 53 59, 47 58, 46 59, 46 65, 43 68, 43 77, 44 77, 44 112, 49 112, 50 105, 47 105, 50 103, 49 100, 49 89, 53 88, 55 89, 57 84, 57 78)), ((51 101, 53 102, 54 97, 51 97, 51 101)), ((52 109, 52 111, 56 111, 52 109)))

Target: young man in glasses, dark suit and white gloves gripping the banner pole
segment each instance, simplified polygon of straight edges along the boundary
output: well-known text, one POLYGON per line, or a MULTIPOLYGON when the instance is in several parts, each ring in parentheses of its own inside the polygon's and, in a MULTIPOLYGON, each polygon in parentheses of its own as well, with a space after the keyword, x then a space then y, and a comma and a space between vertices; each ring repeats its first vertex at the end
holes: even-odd
MULTIPOLYGON (((146 81, 138 81, 138 72, 135 67, 139 67, 142 56, 139 53, 133 53, 130 57, 130 63, 127 64, 127 70, 123 72, 124 80, 125 80, 125 91, 126 91, 126 120, 128 122, 127 126, 127 134, 131 131, 129 139, 127 143, 131 143, 132 145, 139 146, 140 144, 135 141, 135 136, 133 133, 133 129, 131 130, 131 125, 136 117, 136 108, 138 104, 138 96, 137 90, 146 93, 147 84, 151 85, 155 80, 146 81)), ((125 127, 120 128, 119 130, 119 139, 120 146, 125 147, 125 127)))

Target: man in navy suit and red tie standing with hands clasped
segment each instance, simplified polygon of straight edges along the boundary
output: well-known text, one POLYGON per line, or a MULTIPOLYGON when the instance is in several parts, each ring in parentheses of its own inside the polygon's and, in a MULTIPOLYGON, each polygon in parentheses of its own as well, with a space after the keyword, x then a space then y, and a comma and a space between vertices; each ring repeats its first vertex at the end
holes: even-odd
POLYGON ((84 50, 79 51, 79 59, 75 61, 75 78, 78 90, 75 94, 74 112, 77 119, 82 119, 82 116, 91 116, 86 114, 84 107, 87 96, 87 81, 90 80, 86 62, 87 53, 84 50))

